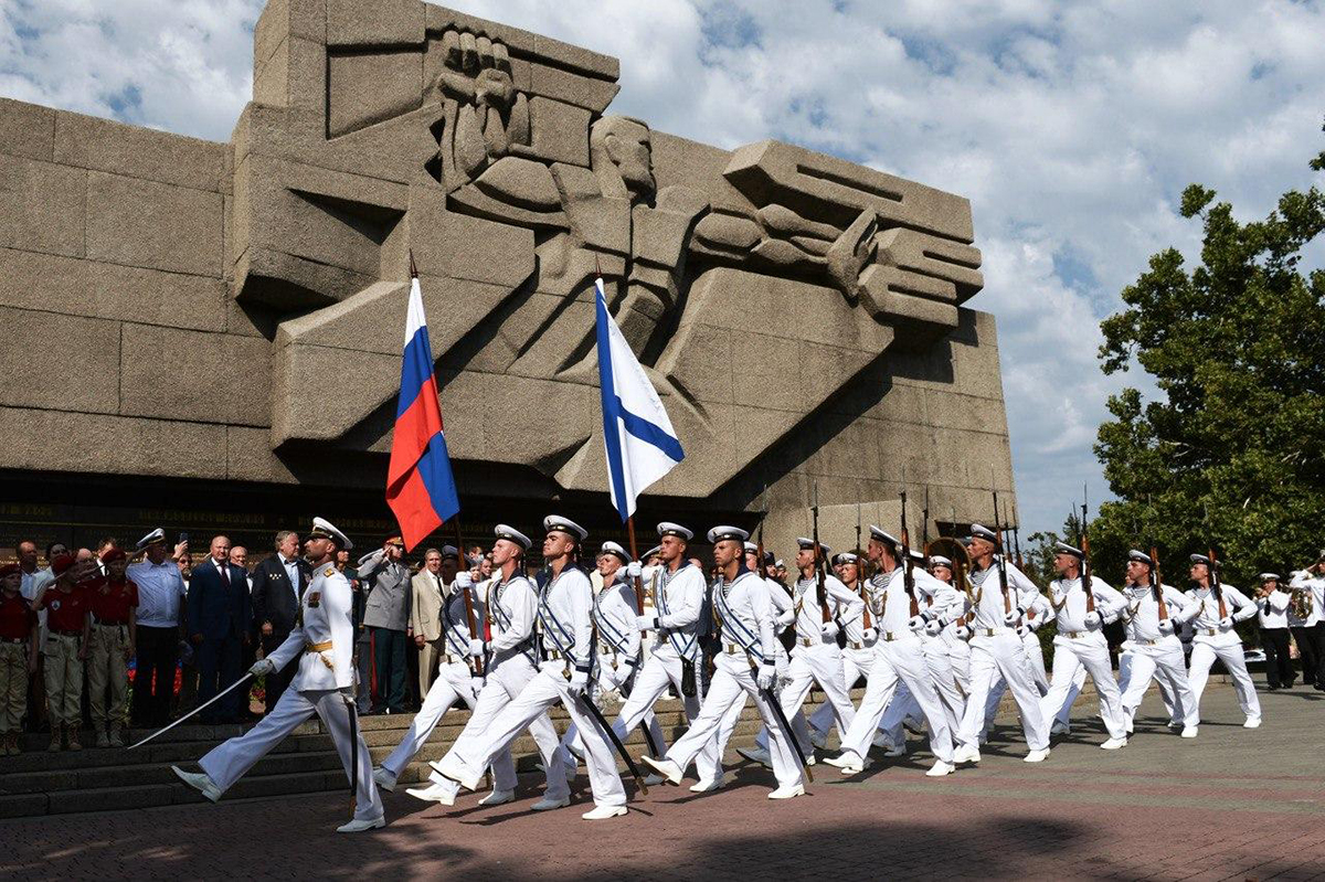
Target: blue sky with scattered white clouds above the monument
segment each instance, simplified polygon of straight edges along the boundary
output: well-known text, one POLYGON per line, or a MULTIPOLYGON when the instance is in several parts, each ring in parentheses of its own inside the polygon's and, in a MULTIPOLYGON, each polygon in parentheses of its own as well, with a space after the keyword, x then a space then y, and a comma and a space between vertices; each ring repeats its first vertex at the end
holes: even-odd
MULTIPOLYGON (((971 200, 998 318, 1023 532, 1089 483, 1098 322, 1200 229, 1202 183, 1244 220, 1320 184, 1325 4, 1288 0, 456 0, 621 60, 613 113, 734 148, 776 138, 971 200)), ((227 140, 258 0, 0 0, 0 94, 227 140)), ((1320 253, 1314 254, 1318 262, 1320 253)))

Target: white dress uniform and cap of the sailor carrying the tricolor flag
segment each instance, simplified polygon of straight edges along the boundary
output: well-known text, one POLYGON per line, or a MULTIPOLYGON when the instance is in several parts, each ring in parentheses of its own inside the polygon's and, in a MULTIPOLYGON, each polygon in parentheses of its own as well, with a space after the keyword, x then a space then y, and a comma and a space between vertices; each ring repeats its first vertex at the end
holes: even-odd
MULTIPOLYGON (((498 539, 514 542, 526 551, 529 536, 514 527, 497 524, 494 535, 498 539)), ((461 572, 456 580, 464 587, 468 573, 461 572)), ((515 701, 538 675, 538 646, 534 634, 538 621, 538 589, 519 569, 510 579, 501 573, 493 576, 478 591, 482 597, 485 621, 492 629, 492 640, 481 636, 470 640, 470 653, 482 656, 486 661, 484 682, 469 715, 469 722, 456 736, 450 751, 441 761, 429 763, 433 772, 428 776, 429 787, 411 789, 408 793, 425 801, 454 805, 460 785, 441 773, 441 763, 457 751, 462 756, 478 756, 486 752, 488 728, 493 720, 515 701)), ((547 788, 543 799, 534 808, 559 808, 570 804, 570 785, 566 783, 566 751, 562 750, 556 730, 547 714, 535 716, 527 724, 547 775, 547 788)), ((477 761, 477 760, 476 760, 477 761)), ((478 773, 484 771, 480 767, 478 773)), ((515 795, 515 761, 509 744, 497 751, 492 761, 493 792, 485 800, 486 805, 507 803, 515 795)))

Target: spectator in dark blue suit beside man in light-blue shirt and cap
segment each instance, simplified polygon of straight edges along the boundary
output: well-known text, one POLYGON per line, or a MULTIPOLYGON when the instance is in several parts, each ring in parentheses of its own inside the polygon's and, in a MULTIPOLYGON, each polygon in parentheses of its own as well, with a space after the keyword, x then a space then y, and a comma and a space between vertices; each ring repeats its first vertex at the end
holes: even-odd
MULTIPOLYGON (((188 583, 188 634, 196 653, 201 705, 240 678, 242 645, 250 640, 252 608, 246 573, 231 563, 231 540, 212 539, 211 556, 193 567, 188 583)), ((238 719, 248 693, 237 689, 200 715, 203 723, 238 719)))

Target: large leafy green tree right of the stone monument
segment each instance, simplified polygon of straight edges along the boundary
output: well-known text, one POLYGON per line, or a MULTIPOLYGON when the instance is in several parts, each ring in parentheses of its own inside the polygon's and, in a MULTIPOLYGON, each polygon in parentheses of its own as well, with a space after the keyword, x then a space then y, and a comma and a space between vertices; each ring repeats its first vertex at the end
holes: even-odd
MULTIPOLYGON (((1325 171, 1325 152, 1310 167, 1325 171)), ((1300 262, 1325 230, 1325 196, 1289 191, 1243 224, 1192 184, 1182 215, 1203 225, 1199 265, 1159 252, 1101 324, 1105 373, 1137 364, 1158 396, 1109 400, 1094 450, 1118 501, 1090 540, 1104 577, 1129 547, 1157 546, 1165 580, 1183 585, 1186 555, 1214 547, 1224 577, 1251 587, 1322 544, 1325 270, 1300 262)))

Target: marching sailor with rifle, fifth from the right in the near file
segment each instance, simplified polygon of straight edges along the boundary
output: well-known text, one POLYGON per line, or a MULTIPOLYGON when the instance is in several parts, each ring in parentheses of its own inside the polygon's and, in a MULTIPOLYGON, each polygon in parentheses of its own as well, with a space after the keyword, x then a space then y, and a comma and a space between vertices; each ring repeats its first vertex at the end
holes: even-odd
POLYGON ((953 772, 953 730, 934 689, 920 638, 926 628, 933 628, 934 634, 939 633, 947 621, 943 613, 951 605, 941 607, 943 612, 937 614, 926 614, 928 611, 912 614, 912 592, 916 607, 921 608, 922 599, 951 591, 951 587, 924 569, 914 571, 910 577, 912 584, 908 585, 908 568, 898 559, 900 546, 894 536, 873 524, 869 526, 869 559, 878 564, 878 573, 872 581, 869 605, 878 638, 874 644, 869 685, 860 701, 856 719, 841 739, 841 754, 825 760, 840 768, 843 775, 856 775, 869 765, 868 754, 874 728, 893 699, 898 682, 906 683, 906 689, 916 697, 929 722, 929 746, 935 759, 925 775, 939 777, 953 772))

